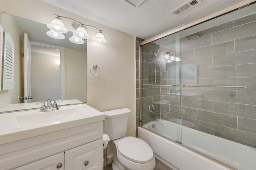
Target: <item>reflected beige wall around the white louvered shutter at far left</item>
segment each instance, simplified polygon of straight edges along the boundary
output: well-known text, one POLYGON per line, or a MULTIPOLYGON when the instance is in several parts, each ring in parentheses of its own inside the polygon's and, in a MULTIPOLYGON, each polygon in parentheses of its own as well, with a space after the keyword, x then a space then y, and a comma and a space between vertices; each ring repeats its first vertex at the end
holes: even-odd
MULTIPOLYGON (((2 6, 1 6, 2 11, 2 6)), ((18 103, 18 96, 24 96, 24 82, 23 82, 23 38, 20 30, 12 17, 3 15, 8 23, 2 23, 2 27, 6 33, 10 33, 12 41, 14 42, 14 89, 0 91, 0 109, 6 107, 8 104, 18 103), (15 38, 14 38, 15 37, 15 38), (18 38, 17 38, 18 37, 18 38), (18 64, 20 63, 20 64, 18 64)), ((1 18, 1 17, 0 17, 1 18)))

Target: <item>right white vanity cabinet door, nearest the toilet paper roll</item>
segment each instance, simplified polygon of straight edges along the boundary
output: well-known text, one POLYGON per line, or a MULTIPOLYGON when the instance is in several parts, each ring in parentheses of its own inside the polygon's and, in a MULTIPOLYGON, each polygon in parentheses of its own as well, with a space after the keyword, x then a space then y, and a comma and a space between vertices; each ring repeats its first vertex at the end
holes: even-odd
POLYGON ((65 170, 102 170, 103 141, 65 151, 65 170))

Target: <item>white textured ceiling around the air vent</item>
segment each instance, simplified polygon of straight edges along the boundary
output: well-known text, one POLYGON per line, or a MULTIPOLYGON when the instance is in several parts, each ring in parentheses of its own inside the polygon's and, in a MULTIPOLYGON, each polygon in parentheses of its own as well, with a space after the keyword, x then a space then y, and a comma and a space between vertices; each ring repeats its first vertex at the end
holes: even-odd
POLYGON ((126 0, 43 1, 130 35, 148 39, 239 0, 202 0, 202 4, 179 16, 170 12, 188 0, 145 0, 137 7, 126 0))

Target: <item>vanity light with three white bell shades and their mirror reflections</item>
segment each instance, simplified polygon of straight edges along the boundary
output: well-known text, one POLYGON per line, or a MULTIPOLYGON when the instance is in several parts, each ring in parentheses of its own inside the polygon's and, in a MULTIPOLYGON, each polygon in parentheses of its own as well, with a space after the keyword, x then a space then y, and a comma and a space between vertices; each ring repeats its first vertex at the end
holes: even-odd
MULTIPOLYGON (((56 15, 56 14, 54 14, 56 15)), ((47 27, 50 29, 50 31, 47 31, 46 34, 49 37, 52 37, 54 39, 64 39, 65 36, 62 33, 67 33, 68 29, 64 26, 63 21, 60 18, 67 18, 69 20, 74 21, 72 23, 72 27, 75 29, 73 32, 73 36, 69 38, 69 40, 72 43, 76 44, 83 44, 85 39, 88 39, 90 35, 86 31, 86 26, 94 27, 92 25, 85 25, 82 24, 76 20, 73 20, 72 18, 64 17, 64 16, 58 16, 52 20, 51 23, 47 24, 47 27)), ((98 29, 94 27, 95 29, 98 29)), ((102 33, 103 30, 98 29, 99 32, 96 34, 96 36, 92 39, 93 41, 96 41, 98 43, 106 43, 106 39, 102 33)))

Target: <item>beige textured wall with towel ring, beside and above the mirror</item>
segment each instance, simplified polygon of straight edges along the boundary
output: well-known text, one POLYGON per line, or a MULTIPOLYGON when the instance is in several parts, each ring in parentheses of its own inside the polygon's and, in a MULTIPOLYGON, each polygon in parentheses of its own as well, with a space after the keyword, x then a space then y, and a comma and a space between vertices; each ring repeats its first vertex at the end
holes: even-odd
MULTIPOLYGON (((135 136, 134 36, 37 0, 0 0, 0 10, 45 24, 50 23, 54 18, 53 13, 56 13, 104 30, 108 42, 102 44, 92 41, 98 31, 87 28, 92 35, 88 39, 87 51, 87 104, 99 111, 127 107, 131 110, 127 135, 135 136), (93 64, 101 69, 101 74, 97 77, 90 74, 93 64)), ((111 148, 110 145, 110 150, 111 148)))

